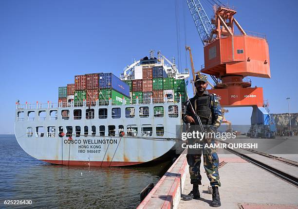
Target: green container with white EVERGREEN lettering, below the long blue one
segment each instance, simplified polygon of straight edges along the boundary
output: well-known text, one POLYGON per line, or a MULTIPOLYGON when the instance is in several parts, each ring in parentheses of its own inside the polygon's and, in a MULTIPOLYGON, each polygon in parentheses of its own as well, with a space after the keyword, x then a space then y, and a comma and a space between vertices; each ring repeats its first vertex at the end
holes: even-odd
POLYGON ((118 91, 115 91, 112 88, 105 88, 99 90, 99 104, 109 104, 109 98, 112 99, 112 105, 121 105, 122 99, 124 97, 125 104, 130 104, 130 98, 127 96, 124 96, 123 94, 119 93, 118 91))

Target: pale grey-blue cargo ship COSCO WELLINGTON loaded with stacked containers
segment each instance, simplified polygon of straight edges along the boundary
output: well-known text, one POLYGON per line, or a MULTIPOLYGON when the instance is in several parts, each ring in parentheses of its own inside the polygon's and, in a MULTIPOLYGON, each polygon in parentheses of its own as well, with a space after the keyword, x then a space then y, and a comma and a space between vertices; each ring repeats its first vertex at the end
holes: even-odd
POLYGON ((74 84, 58 87, 58 103, 16 103, 16 139, 29 155, 53 164, 110 167, 162 159, 177 147, 188 76, 160 52, 127 66, 120 78, 75 75, 74 84))

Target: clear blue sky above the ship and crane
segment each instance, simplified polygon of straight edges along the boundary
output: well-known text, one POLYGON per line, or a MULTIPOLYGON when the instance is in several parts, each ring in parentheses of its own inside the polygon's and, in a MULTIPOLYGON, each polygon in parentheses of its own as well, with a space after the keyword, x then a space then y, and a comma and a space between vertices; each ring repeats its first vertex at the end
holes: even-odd
MULTIPOLYGON (((178 1, 181 67, 186 68, 186 34, 195 68, 200 69, 203 45, 185 0, 178 1)), ((211 7, 204 2, 210 16, 211 7)), ((288 111, 286 97, 291 97, 291 112, 298 112, 298 2, 228 2, 236 7, 235 17, 244 30, 268 39, 272 78, 251 77, 252 86, 263 87, 272 113, 288 111)), ((17 99, 56 102, 57 88, 74 83, 76 74, 119 75, 133 58, 148 55, 150 49, 178 61, 174 0, 1 0, 0 28, 0 133, 14 132, 17 99)), ((229 110, 226 118, 232 123, 250 123, 251 107, 229 110)))

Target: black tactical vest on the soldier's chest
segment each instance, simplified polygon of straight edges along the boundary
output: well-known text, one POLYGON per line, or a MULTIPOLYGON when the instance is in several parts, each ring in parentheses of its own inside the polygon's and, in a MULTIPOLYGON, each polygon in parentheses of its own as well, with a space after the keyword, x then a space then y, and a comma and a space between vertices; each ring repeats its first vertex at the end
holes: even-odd
POLYGON ((210 95, 198 97, 195 100, 196 114, 200 117, 202 124, 212 124, 211 108, 209 106, 210 95))

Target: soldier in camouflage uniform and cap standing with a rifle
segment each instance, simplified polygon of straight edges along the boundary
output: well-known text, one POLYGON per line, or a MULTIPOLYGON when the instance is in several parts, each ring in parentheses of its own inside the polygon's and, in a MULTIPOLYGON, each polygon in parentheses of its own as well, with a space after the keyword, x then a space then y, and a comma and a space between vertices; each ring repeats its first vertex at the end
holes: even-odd
MULTIPOLYGON (((184 121, 186 123, 190 123, 190 125, 195 124, 194 112, 196 112, 196 115, 200 117, 204 128, 206 128, 208 132, 216 132, 217 128, 222 123, 223 115, 217 96, 215 94, 209 94, 208 91, 206 91, 207 76, 197 75, 195 87, 197 93, 193 98, 189 100, 189 103, 191 103, 193 108, 188 103, 184 121)), ((192 142, 197 143, 197 141, 192 142)), ((200 141, 200 143, 202 143, 204 146, 206 141, 204 142, 203 140, 200 141)), ((214 139, 209 139, 208 143, 214 144, 214 139)), ((205 172, 213 190, 211 206, 219 207, 221 206, 220 196, 218 192, 218 187, 221 186, 220 176, 218 173, 219 158, 217 156, 216 150, 211 148, 196 150, 188 149, 186 158, 189 165, 189 173, 191 179, 190 183, 193 185, 193 189, 188 195, 184 197, 184 200, 200 198, 199 185, 201 185, 202 180, 202 176, 200 174, 202 153, 204 158, 205 172)))

